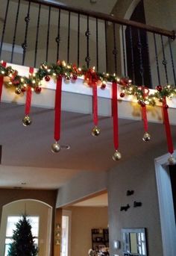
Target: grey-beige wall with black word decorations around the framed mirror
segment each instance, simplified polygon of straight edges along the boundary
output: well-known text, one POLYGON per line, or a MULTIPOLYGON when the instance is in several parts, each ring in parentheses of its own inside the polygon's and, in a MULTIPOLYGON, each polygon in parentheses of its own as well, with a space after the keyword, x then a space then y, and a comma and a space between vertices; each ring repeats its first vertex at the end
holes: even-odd
POLYGON ((122 256, 122 248, 113 249, 113 240, 122 241, 122 228, 146 228, 148 255, 162 256, 160 213, 158 208, 154 157, 162 154, 156 147, 129 162, 120 162, 109 172, 108 202, 110 225, 110 255, 122 256), (133 196, 126 196, 134 190, 133 196), (133 207, 133 202, 142 202, 142 207, 133 207), (128 211, 120 211, 129 204, 128 211))

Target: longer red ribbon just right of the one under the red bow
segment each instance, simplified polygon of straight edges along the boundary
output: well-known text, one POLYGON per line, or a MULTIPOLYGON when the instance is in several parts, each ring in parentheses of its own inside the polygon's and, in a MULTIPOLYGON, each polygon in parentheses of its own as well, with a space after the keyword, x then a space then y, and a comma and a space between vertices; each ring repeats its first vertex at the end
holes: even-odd
POLYGON ((119 147, 119 128, 118 128, 118 104, 117 104, 117 83, 113 82, 113 99, 112 99, 112 114, 113 114, 113 143, 117 150, 119 147))

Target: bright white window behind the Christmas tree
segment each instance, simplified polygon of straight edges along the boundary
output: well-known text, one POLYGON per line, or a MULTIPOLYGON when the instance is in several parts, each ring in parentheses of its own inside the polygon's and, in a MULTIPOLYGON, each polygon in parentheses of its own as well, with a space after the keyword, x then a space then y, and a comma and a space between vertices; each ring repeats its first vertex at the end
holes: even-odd
MULTIPOLYGON (((16 229, 16 223, 19 222, 20 216, 8 216, 7 218, 7 228, 6 228, 6 236, 5 236, 5 252, 4 256, 7 256, 7 252, 10 246, 10 243, 12 243, 12 236, 13 236, 13 230, 16 229)), ((31 223, 31 231, 32 235, 34 237, 34 242, 38 246, 38 240, 39 240, 39 216, 28 216, 27 219, 29 219, 31 223)))

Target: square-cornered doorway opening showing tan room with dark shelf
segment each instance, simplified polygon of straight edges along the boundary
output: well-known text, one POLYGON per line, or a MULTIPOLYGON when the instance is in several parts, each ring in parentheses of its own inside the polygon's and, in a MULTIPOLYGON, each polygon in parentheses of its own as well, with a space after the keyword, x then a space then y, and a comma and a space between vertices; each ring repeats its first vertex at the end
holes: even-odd
MULTIPOLYGON (((82 199, 79 202, 64 207, 63 221, 65 219, 64 212, 66 211, 72 214, 72 222, 69 222, 71 224, 69 227, 70 255, 88 255, 90 250, 92 250, 95 255, 98 255, 100 252, 105 253, 108 251, 107 191, 91 195, 87 199, 82 199)), ((66 232, 66 229, 65 231, 63 230, 62 246, 66 244, 66 237, 68 237, 64 232, 66 232)), ((62 256, 67 256, 65 249, 62 248, 61 251, 62 256)))

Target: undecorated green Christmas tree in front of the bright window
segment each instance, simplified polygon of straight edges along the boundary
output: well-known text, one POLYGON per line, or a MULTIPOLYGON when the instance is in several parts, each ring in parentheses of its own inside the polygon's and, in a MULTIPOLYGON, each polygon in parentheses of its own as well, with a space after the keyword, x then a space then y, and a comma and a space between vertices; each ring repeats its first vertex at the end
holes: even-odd
POLYGON ((8 256, 36 256, 38 249, 34 245, 31 224, 25 215, 16 223, 13 230, 13 243, 10 244, 8 256))

